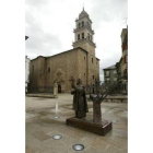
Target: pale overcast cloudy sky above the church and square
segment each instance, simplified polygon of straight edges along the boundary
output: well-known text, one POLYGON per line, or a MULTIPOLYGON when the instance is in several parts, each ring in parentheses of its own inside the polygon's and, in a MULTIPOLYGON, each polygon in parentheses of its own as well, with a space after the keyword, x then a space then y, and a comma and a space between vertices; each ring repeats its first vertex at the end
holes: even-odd
POLYGON ((103 69, 121 57, 121 30, 128 24, 128 0, 25 0, 25 54, 30 59, 72 49, 75 19, 89 13, 95 32, 96 57, 103 69))

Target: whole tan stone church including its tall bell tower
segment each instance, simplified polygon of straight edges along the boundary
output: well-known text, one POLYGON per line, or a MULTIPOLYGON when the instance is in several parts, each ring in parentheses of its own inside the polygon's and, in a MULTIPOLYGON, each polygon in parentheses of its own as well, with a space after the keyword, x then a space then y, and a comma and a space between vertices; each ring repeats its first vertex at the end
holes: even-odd
POLYGON ((70 92, 71 78, 81 79, 83 85, 94 85, 99 81, 99 59, 95 57, 94 31, 92 21, 84 11, 75 20, 73 49, 31 61, 30 92, 52 92, 55 81, 58 91, 70 92))

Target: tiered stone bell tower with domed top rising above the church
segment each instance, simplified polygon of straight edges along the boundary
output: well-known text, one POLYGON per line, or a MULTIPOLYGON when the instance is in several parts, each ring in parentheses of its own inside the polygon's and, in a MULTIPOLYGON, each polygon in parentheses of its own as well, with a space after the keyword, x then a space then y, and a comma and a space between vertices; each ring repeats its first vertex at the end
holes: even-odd
POLYGON ((89 51, 90 55, 95 56, 96 45, 94 44, 94 31, 92 30, 92 21, 89 14, 84 11, 79 14, 75 20, 73 48, 81 47, 89 51))

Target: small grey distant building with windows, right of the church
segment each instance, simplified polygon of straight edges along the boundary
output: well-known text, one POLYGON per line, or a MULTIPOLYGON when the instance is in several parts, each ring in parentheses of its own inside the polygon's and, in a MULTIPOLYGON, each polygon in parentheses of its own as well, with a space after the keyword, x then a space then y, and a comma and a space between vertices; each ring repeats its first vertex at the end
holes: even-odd
POLYGON ((103 69, 104 71, 104 83, 117 84, 117 68, 116 66, 110 66, 108 68, 103 69))

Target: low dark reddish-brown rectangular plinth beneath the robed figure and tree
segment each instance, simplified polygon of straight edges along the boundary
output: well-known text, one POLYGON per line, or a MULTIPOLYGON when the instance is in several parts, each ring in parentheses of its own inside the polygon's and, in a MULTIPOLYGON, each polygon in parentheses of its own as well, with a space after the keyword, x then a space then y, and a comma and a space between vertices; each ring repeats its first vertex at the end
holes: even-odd
POLYGON ((98 122, 93 122, 93 120, 91 119, 86 119, 86 118, 79 119, 75 117, 68 118, 66 120, 66 123, 68 126, 82 129, 92 133, 101 134, 101 136, 105 136, 113 128, 111 122, 107 120, 103 120, 102 122, 98 123, 98 122))

